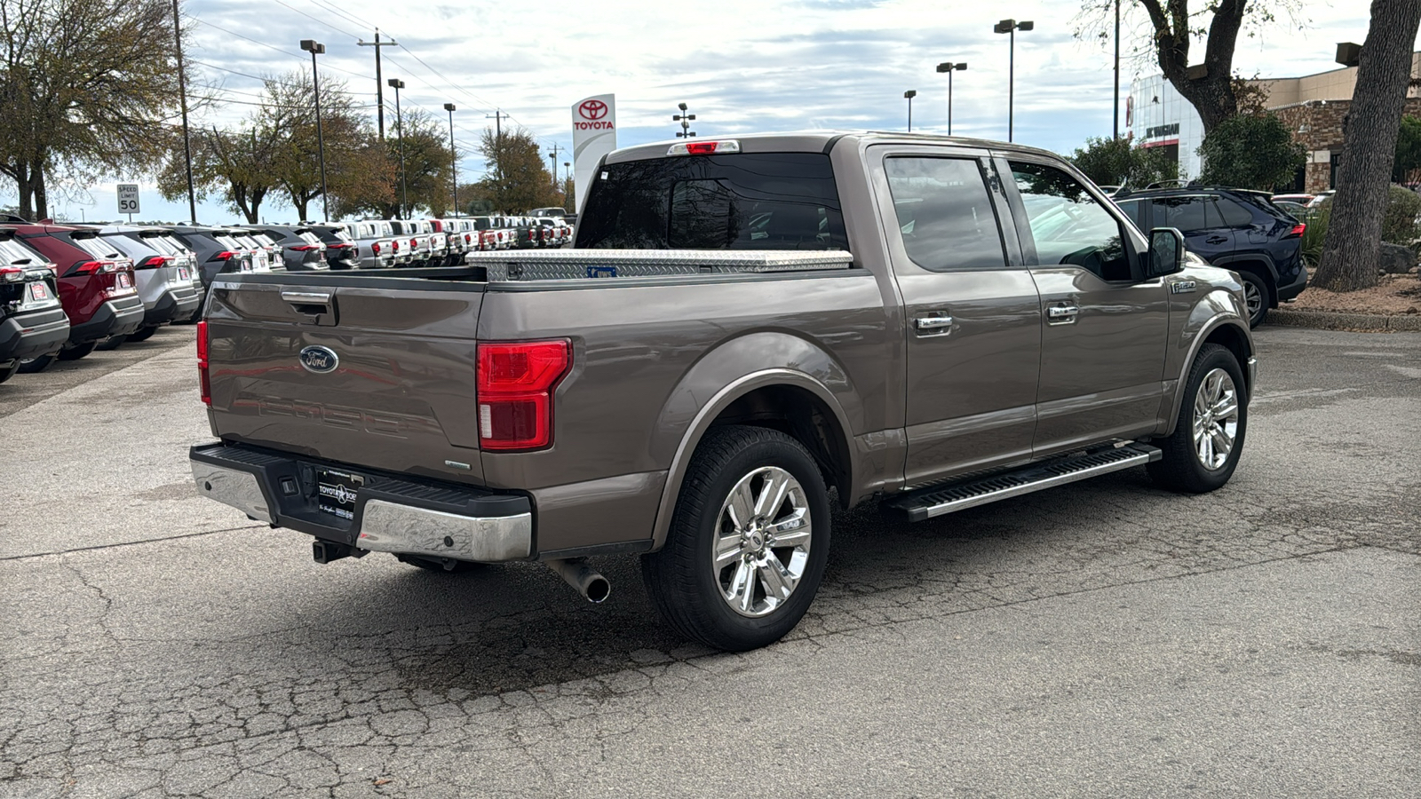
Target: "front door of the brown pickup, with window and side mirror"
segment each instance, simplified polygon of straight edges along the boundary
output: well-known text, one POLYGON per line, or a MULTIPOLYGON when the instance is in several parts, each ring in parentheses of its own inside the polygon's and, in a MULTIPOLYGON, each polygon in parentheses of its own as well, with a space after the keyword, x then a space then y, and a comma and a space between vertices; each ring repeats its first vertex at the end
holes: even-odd
POLYGON ((1033 456, 1151 432, 1169 309, 1164 279, 1144 279, 1145 242, 1064 169, 1029 158, 1007 168, 1017 235, 1042 296, 1033 456))

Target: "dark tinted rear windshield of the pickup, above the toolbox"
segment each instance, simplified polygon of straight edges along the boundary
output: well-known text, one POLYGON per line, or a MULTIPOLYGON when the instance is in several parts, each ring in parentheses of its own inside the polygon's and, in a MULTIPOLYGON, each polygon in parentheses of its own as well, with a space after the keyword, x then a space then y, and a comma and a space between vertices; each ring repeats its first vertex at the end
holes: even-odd
POLYGON ((834 171, 818 152, 607 165, 578 236, 597 249, 848 249, 834 171))

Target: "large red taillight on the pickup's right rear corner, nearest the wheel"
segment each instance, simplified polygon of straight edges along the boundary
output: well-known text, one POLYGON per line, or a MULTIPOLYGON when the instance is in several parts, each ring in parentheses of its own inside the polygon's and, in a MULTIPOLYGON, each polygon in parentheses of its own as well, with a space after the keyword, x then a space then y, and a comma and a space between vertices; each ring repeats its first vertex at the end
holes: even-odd
POLYGON ((479 344, 479 445, 526 451, 553 445, 553 390, 573 363, 567 340, 479 344))

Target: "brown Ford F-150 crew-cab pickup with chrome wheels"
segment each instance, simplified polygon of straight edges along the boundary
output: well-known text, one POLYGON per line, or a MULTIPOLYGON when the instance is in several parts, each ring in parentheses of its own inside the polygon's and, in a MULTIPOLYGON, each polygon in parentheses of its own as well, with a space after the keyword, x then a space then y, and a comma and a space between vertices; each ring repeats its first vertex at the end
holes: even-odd
POLYGON ((620 149, 574 249, 392 274, 220 274, 199 493, 423 569, 533 560, 725 650, 804 614, 830 505, 925 520, 1144 466, 1238 465, 1238 274, 1059 156, 892 134, 620 149))

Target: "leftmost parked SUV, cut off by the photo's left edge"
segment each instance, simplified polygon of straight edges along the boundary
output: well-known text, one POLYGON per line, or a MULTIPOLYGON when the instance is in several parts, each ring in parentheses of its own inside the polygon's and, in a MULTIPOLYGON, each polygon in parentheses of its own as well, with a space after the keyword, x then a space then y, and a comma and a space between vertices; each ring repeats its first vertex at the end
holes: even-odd
POLYGON ((70 338, 70 318, 60 306, 54 264, 0 230, 0 382, 20 363, 53 358, 70 338))

